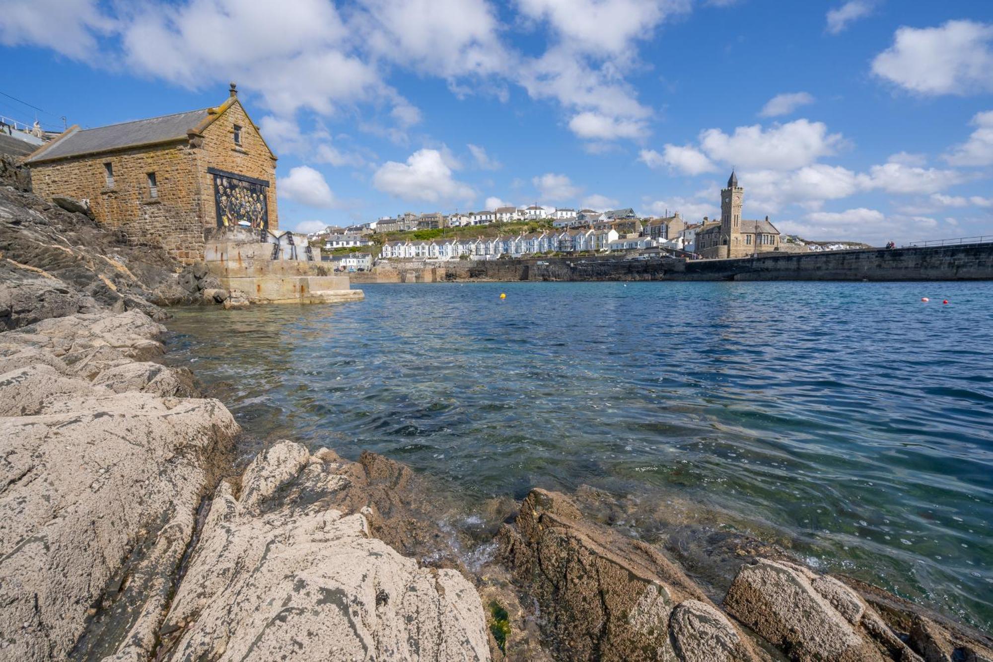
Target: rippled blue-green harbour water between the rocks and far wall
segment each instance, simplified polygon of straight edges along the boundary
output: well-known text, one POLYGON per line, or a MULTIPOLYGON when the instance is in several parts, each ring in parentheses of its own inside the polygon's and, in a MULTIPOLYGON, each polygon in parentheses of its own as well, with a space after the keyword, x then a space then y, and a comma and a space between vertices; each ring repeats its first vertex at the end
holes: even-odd
POLYGON ((677 497, 993 629, 993 283, 362 289, 181 310, 170 360, 261 439, 384 453, 470 504, 677 497))

